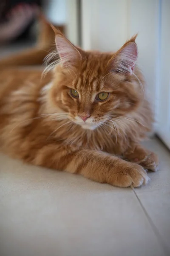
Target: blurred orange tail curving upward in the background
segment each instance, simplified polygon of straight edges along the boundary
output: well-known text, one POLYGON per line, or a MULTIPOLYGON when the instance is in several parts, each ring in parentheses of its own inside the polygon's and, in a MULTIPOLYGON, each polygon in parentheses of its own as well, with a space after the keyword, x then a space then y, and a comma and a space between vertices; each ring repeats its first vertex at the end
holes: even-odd
MULTIPOLYGON (((34 47, 17 52, 8 57, 0 59, 0 68, 25 66, 25 65, 40 65, 43 63, 44 58, 54 47, 54 31, 51 25, 44 18, 42 14, 39 14, 38 20, 40 23, 40 32, 37 38, 37 43, 34 47)), ((59 30, 63 32, 63 27, 59 27, 59 30)))

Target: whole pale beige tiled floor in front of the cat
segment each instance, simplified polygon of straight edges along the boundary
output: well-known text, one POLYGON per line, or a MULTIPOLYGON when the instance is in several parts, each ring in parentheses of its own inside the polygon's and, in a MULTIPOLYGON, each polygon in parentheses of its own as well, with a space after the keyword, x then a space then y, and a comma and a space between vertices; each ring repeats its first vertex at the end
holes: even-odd
POLYGON ((132 190, 28 166, 0 155, 1 256, 170 255, 170 152, 132 190))

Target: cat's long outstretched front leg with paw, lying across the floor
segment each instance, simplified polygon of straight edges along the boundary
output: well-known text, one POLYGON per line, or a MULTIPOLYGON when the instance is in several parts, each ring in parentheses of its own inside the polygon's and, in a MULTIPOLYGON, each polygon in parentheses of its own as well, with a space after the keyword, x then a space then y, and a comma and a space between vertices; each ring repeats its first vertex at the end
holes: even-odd
POLYGON ((68 150, 47 145, 37 152, 34 164, 63 170, 113 186, 138 187, 147 183, 146 171, 136 163, 94 150, 68 150))

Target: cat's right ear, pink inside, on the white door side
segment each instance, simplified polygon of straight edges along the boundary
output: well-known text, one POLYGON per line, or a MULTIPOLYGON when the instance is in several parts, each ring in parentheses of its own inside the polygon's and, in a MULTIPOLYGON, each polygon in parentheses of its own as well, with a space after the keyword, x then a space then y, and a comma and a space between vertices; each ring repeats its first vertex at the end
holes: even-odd
POLYGON ((131 75, 138 57, 138 48, 135 43, 136 36, 127 41, 108 62, 111 71, 117 71, 131 75))

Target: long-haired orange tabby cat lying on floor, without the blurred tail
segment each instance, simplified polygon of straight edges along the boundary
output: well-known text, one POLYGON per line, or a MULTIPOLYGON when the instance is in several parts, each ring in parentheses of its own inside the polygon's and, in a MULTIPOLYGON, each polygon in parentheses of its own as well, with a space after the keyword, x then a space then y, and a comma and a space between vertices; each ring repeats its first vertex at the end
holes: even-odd
POLYGON ((153 117, 135 66, 136 37, 116 53, 85 52, 53 29, 60 59, 52 55, 45 76, 1 70, 2 150, 114 186, 147 183, 144 168, 156 171, 158 159, 140 145, 153 117))

